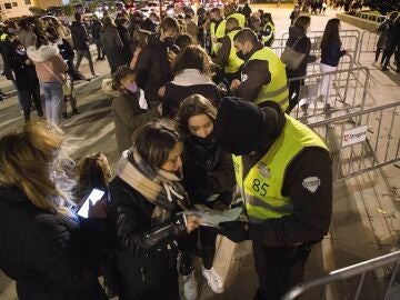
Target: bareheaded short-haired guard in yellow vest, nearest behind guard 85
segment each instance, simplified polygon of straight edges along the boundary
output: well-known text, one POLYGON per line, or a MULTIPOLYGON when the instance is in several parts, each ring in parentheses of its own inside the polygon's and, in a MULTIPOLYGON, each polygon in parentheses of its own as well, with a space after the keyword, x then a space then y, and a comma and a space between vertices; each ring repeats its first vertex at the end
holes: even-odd
POLYGON ((284 64, 280 58, 258 40, 249 28, 240 30, 233 38, 242 66, 241 80, 233 80, 230 90, 240 98, 256 104, 274 101, 283 111, 289 106, 289 91, 284 64))

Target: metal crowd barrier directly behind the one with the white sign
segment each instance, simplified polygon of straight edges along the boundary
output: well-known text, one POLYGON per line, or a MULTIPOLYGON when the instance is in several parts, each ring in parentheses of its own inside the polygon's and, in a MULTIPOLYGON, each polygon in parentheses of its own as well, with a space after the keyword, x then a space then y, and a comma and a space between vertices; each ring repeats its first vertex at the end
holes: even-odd
POLYGON ((300 84, 299 106, 293 108, 291 116, 310 123, 362 110, 367 98, 369 72, 368 68, 359 67, 289 79, 289 84, 296 81, 300 84), (332 83, 330 89, 323 91, 321 83, 328 77, 331 77, 332 83), (327 103, 331 106, 329 110, 326 109, 327 103))

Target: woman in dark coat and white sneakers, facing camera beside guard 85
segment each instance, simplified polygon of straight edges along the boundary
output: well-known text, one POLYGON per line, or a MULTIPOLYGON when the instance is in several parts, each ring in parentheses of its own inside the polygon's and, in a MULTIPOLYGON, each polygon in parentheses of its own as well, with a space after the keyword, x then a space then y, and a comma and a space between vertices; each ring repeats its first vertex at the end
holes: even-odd
MULTIPOLYGON (((183 100, 178 113, 179 128, 184 137, 183 187, 192 204, 203 204, 211 209, 223 209, 232 201, 236 184, 233 162, 213 139, 213 122, 217 109, 201 94, 183 100)), ((180 272, 183 274, 186 299, 196 299, 197 283, 192 271, 192 253, 200 240, 202 273, 211 290, 223 292, 223 282, 212 268, 216 253, 217 234, 200 228, 181 240, 182 250, 180 272)))

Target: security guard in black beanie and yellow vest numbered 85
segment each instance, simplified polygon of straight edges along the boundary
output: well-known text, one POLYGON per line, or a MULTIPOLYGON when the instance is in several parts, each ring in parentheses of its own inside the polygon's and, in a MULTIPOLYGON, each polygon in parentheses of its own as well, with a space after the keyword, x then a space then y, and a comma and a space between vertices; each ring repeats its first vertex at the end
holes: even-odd
POLYGON ((249 223, 220 223, 232 241, 251 239, 259 278, 257 300, 278 300, 303 280, 312 244, 327 234, 332 213, 331 159, 311 129, 274 102, 221 100, 216 141, 233 153, 249 223))

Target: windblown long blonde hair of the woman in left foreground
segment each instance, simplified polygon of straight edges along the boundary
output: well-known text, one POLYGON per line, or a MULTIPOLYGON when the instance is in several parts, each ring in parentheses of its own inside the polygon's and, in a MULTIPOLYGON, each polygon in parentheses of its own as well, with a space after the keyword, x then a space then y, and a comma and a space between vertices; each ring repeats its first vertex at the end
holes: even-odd
POLYGON ((28 122, 21 132, 0 139, 0 186, 18 187, 38 208, 70 214, 72 166, 61 129, 44 121, 28 122))

